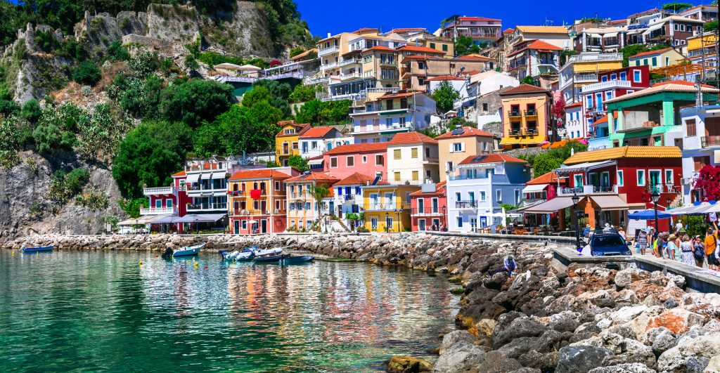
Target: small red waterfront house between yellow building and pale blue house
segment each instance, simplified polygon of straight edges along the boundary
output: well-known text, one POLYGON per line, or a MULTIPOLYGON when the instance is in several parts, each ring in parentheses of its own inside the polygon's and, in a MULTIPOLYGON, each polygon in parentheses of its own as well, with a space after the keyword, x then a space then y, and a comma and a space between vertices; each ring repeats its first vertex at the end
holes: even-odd
POLYGON ((447 226, 447 195, 445 182, 428 185, 410 193, 410 221, 413 231, 429 231, 447 226))

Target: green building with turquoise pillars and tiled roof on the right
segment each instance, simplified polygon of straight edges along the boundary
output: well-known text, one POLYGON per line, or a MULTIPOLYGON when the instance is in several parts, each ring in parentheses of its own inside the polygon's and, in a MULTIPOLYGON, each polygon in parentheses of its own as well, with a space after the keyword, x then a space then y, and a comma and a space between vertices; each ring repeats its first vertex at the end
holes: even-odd
MULTIPOLYGON (((718 90, 701 87, 703 102, 718 101, 718 90)), ((698 88, 693 83, 675 80, 628 93, 606 101, 610 146, 683 147, 680 108, 696 102, 698 88)))

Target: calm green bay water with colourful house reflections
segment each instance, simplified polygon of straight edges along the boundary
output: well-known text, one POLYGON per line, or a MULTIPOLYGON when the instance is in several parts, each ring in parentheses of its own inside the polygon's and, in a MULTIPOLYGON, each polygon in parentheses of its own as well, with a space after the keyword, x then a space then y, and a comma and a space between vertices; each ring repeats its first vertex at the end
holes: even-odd
POLYGON ((196 260, 0 250, 0 372, 373 372, 457 309, 424 272, 196 260))

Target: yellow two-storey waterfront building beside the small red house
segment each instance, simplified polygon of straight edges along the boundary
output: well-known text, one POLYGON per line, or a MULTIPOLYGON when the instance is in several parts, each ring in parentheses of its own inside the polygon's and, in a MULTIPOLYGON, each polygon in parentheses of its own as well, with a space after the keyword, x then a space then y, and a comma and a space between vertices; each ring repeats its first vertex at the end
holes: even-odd
POLYGON ((373 185, 363 187, 365 228, 372 232, 410 231, 410 193, 420 185, 373 185))

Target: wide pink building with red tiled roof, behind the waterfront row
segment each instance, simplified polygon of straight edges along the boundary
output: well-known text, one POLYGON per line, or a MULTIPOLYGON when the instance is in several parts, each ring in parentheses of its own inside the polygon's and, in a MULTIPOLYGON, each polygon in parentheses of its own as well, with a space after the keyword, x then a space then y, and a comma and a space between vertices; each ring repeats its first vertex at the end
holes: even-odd
POLYGON ((382 172, 387 181, 387 142, 341 145, 323 154, 325 172, 338 179, 344 179, 359 172, 374 176, 382 172))

